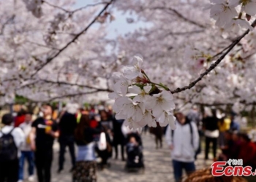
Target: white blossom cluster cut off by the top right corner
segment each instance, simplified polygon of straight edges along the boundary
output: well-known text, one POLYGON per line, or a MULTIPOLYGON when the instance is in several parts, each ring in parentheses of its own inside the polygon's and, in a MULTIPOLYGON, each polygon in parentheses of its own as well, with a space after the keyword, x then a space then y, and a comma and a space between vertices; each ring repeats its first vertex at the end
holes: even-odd
POLYGON ((210 17, 216 20, 215 25, 226 30, 253 27, 249 24, 256 15, 256 0, 210 0, 210 17))

